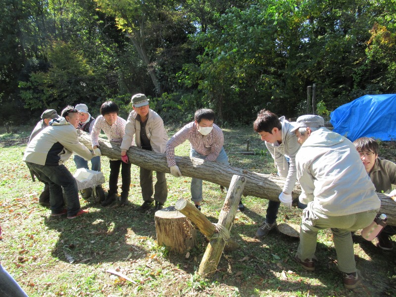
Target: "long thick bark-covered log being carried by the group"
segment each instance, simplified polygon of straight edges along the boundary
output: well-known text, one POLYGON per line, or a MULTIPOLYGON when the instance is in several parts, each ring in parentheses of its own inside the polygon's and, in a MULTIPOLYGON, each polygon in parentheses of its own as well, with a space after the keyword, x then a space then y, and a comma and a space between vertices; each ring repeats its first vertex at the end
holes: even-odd
MULTIPOLYGON (((88 133, 79 131, 79 140, 87 148, 92 149, 91 137, 88 133)), ((99 138, 100 151, 102 155, 111 159, 121 159, 119 143, 111 143, 99 138)), ((149 170, 170 173, 166 162, 166 156, 145 149, 131 147, 127 151, 129 162, 149 170)), ((244 176, 247 180, 245 185, 245 196, 254 196, 268 200, 279 201, 285 179, 276 174, 261 174, 245 169, 232 167, 218 162, 208 162, 198 158, 176 157, 176 163, 183 175, 199 178, 224 187, 229 187, 234 175, 244 176)), ((298 183, 293 190, 293 199, 301 194, 298 183)), ((386 213, 388 224, 396 226, 396 202, 384 194, 377 194, 381 200, 380 213, 386 213)))

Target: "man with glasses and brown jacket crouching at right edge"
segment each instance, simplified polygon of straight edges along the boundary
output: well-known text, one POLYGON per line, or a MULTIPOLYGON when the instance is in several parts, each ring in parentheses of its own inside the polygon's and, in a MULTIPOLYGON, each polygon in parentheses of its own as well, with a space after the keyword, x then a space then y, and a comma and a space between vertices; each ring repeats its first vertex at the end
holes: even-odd
MULTIPOLYGON (((379 146, 372 138, 361 137, 356 139, 353 144, 375 186, 375 190, 378 193, 396 195, 396 190, 392 191, 392 184, 396 184, 396 164, 378 157, 379 146)), ((387 225, 377 236, 378 247, 384 250, 392 250, 391 236, 395 234, 396 226, 387 225)))

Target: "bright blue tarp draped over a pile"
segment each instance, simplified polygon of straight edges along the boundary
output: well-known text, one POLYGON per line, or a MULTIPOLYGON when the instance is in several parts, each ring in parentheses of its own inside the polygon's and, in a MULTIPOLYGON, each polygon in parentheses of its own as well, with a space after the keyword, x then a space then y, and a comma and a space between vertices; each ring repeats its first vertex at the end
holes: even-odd
POLYGON ((335 132, 350 141, 371 137, 396 140, 396 94, 365 95, 330 114, 335 132))

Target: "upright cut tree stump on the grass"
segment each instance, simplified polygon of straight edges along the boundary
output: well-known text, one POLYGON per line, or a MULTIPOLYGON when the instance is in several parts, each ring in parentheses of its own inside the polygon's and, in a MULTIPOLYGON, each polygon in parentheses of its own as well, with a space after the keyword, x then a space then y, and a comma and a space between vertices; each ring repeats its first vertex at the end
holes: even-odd
POLYGON ((164 246, 169 251, 180 254, 195 247, 197 230, 174 206, 156 211, 154 219, 158 247, 164 246))

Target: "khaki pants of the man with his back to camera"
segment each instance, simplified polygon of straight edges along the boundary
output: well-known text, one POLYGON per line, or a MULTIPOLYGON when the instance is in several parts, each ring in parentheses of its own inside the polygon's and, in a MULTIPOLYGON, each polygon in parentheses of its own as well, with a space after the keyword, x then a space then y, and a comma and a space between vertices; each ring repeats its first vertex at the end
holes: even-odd
POLYGON ((338 268, 345 273, 356 271, 351 231, 363 229, 374 220, 378 209, 344 216, 326 216, 311 208, 312 202, 302 212, 300 243, 297 256, 301 260, 312 260, 316 250, 319 230, 331 229, 337 252, 338 268))

